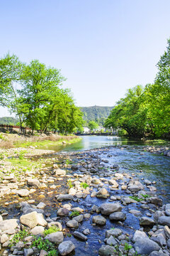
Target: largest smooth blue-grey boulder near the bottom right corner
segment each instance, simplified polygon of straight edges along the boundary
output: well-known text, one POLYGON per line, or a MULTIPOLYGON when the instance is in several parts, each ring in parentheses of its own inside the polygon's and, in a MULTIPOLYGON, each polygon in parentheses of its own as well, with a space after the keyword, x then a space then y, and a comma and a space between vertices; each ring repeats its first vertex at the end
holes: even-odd
POLYGON ((135 251, 140 255, 149 255, 153 251, 159 251, 160 247, 157 242, 150 240, 149 238, 140 238, 136 240, 135 251))

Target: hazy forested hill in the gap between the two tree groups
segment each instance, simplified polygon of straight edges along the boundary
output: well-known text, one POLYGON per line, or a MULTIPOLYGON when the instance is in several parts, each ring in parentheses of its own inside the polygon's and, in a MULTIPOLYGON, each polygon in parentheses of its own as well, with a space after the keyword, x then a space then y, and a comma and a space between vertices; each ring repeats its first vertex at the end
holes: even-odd
POLYGON ((103 126, 106 118, 110 114, 113 107, 80 107, 80 110, 84 113, 83 119, 86 122, 95 121, 100 126, 103 126))

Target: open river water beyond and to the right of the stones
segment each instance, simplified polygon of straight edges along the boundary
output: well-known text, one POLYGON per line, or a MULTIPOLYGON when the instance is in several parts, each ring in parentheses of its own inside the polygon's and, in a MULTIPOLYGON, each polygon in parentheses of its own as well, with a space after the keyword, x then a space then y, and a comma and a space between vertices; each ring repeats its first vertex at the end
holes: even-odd
MULTIPOLYGON (((143 147, 147 144, 141 140, 122 139, 116 136, 84 136, 80 142, 75 144, 57 146, 57 148, 53 146, 49 149, 69 152, 103 146, 118 146, 110 149, 113 157, 107 158, 107 154, 103 154, 102 157, 107 158, 110 165, 119 164, 121 171, 137 174, 139 178, 147 178, 149 181, 156 181, 159 196, 162 197, 164 202, 168 202, 170 201, 170 157, 144 151, 143 147), (128 145, 128 148, 121 149, 121 145, 128 145)), ((157 142, 150 142, 149 144, 157 144, 157 142)))

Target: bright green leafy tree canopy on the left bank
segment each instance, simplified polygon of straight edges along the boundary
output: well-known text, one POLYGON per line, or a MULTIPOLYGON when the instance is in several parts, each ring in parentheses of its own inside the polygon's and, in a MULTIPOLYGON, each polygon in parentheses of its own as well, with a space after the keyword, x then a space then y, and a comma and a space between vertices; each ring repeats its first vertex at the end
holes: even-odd
POLYGON ((83 119, 71 92, 61 87, 64 80, 56 68, 46 67, 38 60, 26 65, 15 55, 7 54, 0 60, 0 104, 32 132, 50 129, 72 133, 81 127, 83 119))

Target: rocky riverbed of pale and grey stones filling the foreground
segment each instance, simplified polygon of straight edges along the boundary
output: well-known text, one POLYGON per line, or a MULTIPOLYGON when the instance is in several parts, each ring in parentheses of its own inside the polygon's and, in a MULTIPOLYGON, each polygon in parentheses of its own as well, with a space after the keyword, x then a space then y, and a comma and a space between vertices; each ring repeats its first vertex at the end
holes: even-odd
POLYGON ((0 255, 170 255, 170 204, 112 149, 1 151, 0 255))

